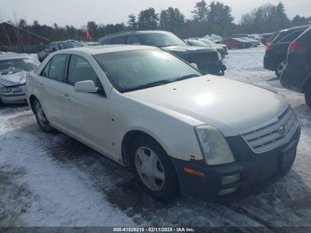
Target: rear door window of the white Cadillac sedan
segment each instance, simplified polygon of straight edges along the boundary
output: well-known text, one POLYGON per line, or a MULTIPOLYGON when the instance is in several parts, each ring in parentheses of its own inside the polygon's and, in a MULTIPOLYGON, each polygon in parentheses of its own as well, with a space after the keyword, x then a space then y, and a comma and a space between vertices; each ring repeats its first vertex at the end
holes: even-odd
POLYGON ((63 72, 66 63, 67 54, 58 54, 53 56, 50 69, 49 78, 55 81, 63 82, 63 72))

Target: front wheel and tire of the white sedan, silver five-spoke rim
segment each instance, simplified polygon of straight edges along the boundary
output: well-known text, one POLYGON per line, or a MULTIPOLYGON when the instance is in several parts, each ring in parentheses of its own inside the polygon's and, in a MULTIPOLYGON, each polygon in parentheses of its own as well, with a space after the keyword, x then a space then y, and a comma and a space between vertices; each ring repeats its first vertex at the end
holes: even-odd
POLYGON ((165 150, 154 139, 139 136, 132 141, 129 152, 130 166, 142 190, 156 200, 171 200, 179 183, 165 150))

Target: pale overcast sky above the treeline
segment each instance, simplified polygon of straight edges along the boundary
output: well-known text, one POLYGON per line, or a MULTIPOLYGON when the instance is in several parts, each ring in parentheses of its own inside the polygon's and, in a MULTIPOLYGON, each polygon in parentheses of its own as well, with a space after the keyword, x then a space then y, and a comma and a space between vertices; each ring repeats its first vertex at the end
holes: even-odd
MULTIPOLYGON (((80 27, 87 21, 96 23, 127 22, 130 14, 154 7, 157 12, 169 6, 178 7, 186 18, 191 18, 191 11, 198 0, 0 0, 0 8, 8 19, 13 20, 15 10, 18 18, 25 18, 28 23, 35 19, 40 24, 60 26, 66 24, 80 27)), ((211 0, 206 0, 207 4, 211 0)), ((240 22, 242 14, 264 3, 277 4, 279 0, 219 0, 232 7, 235 22, 240 22)), ((311 16, 311 0, 282 0, 290 18, 295 15, 311 16)))

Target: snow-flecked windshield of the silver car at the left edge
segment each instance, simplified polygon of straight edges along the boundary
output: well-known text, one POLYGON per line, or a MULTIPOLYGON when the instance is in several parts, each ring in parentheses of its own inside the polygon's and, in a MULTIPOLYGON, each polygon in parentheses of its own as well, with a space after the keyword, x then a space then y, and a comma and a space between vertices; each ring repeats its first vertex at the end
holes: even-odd
POLYGON ((39 63, 33 58, 0 60, 0 74, 34 70, 39 63))

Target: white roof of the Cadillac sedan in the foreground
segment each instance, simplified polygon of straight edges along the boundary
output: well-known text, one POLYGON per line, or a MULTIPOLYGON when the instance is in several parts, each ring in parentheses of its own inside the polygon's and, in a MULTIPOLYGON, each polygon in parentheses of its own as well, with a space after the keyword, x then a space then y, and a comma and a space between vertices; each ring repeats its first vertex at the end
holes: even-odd
POLYGON ((87 46, 87 47, 77 47, 66 50, 58 50, 56 53, 64 53, 64 51, 82 51, 87 52, 92 55, 108 53, 108 52, 118 52, 118 51, 126 51, 126 50, 142 50, 142 49, 153 49, 159 50, 157 47, 153 46, 145 46, 145 45, 99 45, 99 46, 87 46))

